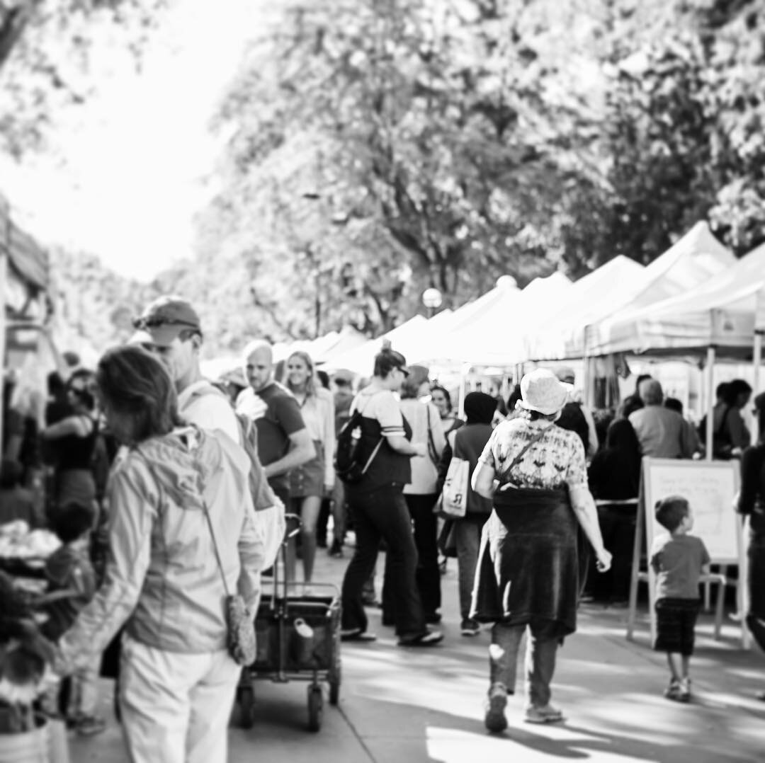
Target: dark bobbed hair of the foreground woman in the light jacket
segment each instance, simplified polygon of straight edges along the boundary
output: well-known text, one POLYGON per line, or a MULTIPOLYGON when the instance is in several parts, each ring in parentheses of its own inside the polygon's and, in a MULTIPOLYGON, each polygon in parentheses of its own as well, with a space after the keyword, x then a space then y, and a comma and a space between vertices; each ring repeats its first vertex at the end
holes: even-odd
POLYGON ((96 369, 96 385, 109 407, 132 419, 136 442, 167 434, 181 424, 168 370, 140 346, 107 350, 96 369))

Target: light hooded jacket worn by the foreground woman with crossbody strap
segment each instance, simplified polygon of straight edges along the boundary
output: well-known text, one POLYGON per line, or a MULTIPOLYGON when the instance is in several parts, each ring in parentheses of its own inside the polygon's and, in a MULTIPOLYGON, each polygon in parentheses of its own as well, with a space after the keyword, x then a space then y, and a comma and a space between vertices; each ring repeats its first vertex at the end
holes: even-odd
POLYGON ((248 469, 229 437, 197 427, 125 454, 109 485, 105 580, 60 641, 63 666, 87 664, 125 622, 136 641, 165 651, 226 648, 226 593, 203 505, 229 593, 254 607, 264 544, 248 469))

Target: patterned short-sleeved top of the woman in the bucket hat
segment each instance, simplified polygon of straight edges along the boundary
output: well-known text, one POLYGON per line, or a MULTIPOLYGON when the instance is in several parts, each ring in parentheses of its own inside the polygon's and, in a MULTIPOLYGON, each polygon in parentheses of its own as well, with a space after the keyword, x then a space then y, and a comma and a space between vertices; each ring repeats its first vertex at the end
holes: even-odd
POLYGON ((547 420, 530 421, 518 417, 503 421, 493 431, 481 453, 480 461, 494 470, 500 482, 513 482, 522 488, 587 488, 584 446, 575 432, 562 429, 547 420), (549 427, 549 428, 548 428, 549 427), (523 454, 509 476, 504 476, 513 459, 529 440, 546 430, 523 454))

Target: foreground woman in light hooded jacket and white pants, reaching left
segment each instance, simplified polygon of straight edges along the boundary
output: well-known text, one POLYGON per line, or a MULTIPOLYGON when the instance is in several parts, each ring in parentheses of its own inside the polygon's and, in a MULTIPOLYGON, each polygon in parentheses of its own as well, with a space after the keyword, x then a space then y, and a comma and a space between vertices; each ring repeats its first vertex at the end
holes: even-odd
POLYGON ((92 660, 125 624, 119 703, 130 759, 225 763, 241 672, 226 648, 226 586, 253 612, 263 558, 249 461, 227 437, 181 424, 171 378, 145 350, 106 352, 96 384, 125 449, 109 484, 106 576, 63 635, 56 670, 92 660))

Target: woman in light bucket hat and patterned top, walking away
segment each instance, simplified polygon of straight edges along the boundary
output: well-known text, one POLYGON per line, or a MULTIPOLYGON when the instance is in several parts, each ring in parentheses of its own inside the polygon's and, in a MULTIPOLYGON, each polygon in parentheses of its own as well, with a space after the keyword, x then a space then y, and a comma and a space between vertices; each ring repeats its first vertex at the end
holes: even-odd
POLYGON ((493 499, 483 526, 470 617, 492 622, 490 687, 485 722, 507 727, 507 695, 515 691, 516 657, 529 629, 526 716, 532 723, 562 720, 550 704, 555 655, 576 630, 579 593, 578 525, 598 569, 610 567, 588 489, 584 446, 555 426, 568 398, 547 369, 521 380, 523 415, 496 427, 473 475, 473 489, 493 499))

